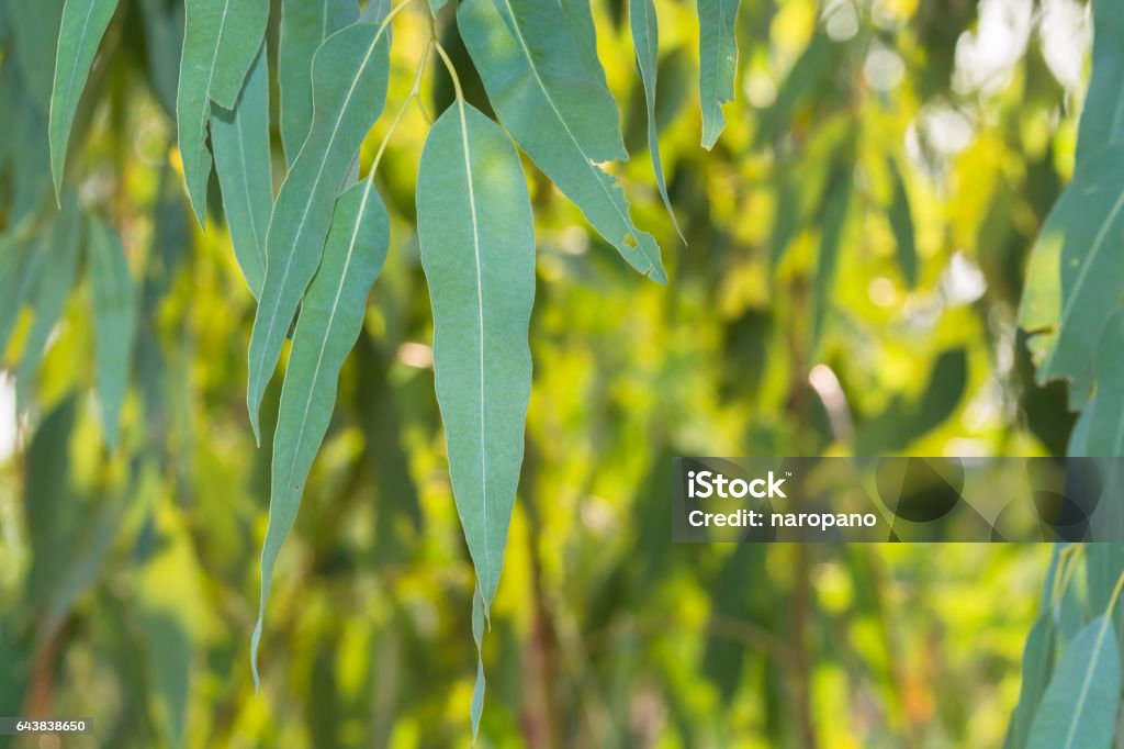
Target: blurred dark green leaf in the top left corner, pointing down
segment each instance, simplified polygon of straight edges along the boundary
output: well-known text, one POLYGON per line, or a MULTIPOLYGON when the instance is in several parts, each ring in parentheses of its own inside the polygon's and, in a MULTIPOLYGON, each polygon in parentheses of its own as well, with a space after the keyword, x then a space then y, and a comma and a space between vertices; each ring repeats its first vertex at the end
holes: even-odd
POLYGON ((8 0, 12 52, 36 111, 44 121, 51 110, 55 49, 66 0, 8 0))

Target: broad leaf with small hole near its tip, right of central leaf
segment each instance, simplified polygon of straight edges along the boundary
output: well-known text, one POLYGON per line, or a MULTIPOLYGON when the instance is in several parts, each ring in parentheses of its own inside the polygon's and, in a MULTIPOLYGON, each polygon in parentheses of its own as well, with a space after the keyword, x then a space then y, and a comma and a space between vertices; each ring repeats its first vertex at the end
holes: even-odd
POLYGON ((554 0, 465 0, 464 45, 488 98, 516 143, 641 273, 668 280, 660 247, 628 215, 624 190, 598 163, 626 160, 605 73, 589 70, 591 39, 575 38, 554 0), (584 49, 584 51, 583 51, 584 49))

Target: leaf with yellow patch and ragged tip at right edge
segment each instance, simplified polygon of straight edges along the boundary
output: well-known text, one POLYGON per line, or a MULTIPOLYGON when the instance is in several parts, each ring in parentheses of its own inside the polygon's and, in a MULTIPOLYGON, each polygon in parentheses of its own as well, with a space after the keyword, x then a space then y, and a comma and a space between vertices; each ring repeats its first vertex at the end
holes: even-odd
POLYGON ((1124 292, 1122 243, 1124 145, 1115 145, 1086 161, 1046 217, 1018 312, 1035 379, 1070 380, 1070 408, 1088 400, 1097 342, 1124 292))

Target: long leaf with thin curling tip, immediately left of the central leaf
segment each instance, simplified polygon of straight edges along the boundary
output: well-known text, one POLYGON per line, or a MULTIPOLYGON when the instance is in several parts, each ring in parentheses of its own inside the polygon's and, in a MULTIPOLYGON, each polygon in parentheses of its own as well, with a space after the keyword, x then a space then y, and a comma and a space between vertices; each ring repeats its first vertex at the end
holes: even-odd
POLYGON ((257 644, 278 552, 297 517, 305 481, 324 441, 336 399, 336 381, 355 345, 371 285, 390 244, 387 209, 372 180, 348 188, 336 201, 324 261, 293 334, 273 436, 270 524, 262 549, 262 601, 251 644, 257 684, 257 644))

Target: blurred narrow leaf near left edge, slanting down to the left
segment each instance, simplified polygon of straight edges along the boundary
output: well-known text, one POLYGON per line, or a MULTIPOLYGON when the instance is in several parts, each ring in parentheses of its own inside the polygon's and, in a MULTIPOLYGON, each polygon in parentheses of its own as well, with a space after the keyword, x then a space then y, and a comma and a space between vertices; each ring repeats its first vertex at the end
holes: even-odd
POLYGON ((51 231, 43 236, 37 252, 43 253, 44 268, 35 290, 33 310, 35 319, 24 343, 24 352, 16 374, 16 401, 19 410, 26 405, 28 388, 39 371, 43 350, 51 331, 63 315, 78 276, 79 247, 82 235, 82 214, 73 190, 63 192, 62 209, 51 231))

